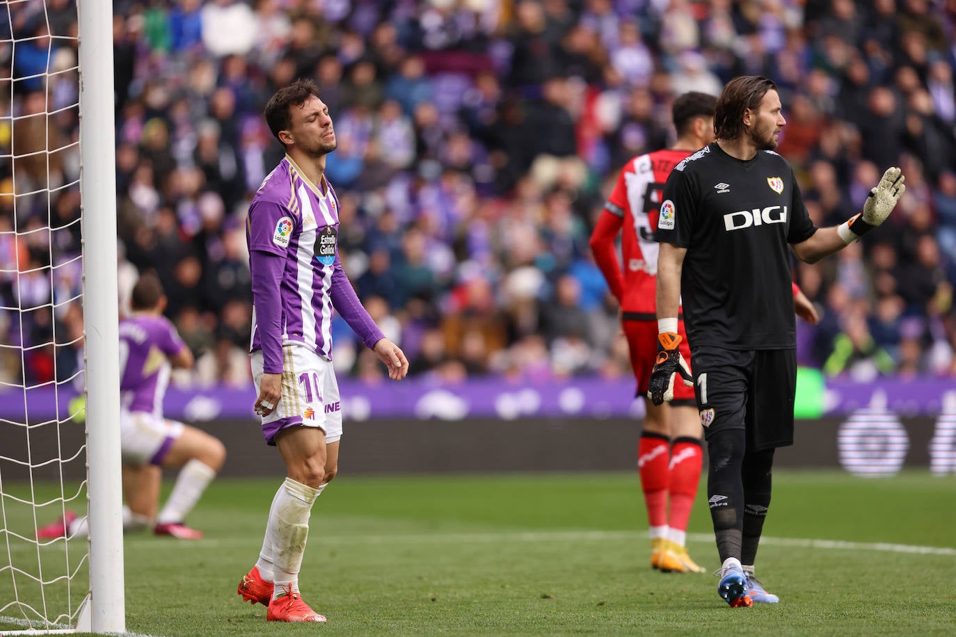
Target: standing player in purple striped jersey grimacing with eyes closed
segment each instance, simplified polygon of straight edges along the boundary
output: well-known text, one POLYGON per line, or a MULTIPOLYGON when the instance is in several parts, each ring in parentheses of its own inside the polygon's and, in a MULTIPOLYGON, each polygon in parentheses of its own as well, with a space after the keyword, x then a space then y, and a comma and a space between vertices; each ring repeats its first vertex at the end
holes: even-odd
POLYGON ((299 79, 277 91, 265 117, 286 157, 259 187, 246 223, 250 358, 254 409, 288 477, 272 499, 259 560, 238 593, 269 606, 270 622, 325 622, 301 599, 298 572, 312 506, 336 476, 342 435, 331 360, 333 309, 375 351, 391 379, 408 373, 408 360, 372 321, 342 269, 338 200, 324 176, 336 134, 315 83, 299 79))

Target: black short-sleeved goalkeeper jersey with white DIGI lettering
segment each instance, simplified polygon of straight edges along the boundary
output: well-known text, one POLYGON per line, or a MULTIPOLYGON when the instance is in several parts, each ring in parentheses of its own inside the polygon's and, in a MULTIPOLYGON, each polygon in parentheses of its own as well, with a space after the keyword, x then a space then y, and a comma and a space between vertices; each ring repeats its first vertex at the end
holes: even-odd
POLYGON ((681 275, 692 349, 796 347, 791 250, 810 221, 786 159, 760 151, 743 161, 712 143, 667 178, 659 242, 687 248, 681 275))

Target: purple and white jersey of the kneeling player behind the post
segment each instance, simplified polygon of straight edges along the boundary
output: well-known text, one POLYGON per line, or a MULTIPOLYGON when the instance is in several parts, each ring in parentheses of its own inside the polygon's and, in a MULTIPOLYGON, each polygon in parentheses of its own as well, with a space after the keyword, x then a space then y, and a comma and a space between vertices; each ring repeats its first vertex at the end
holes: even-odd
POLYGON ((120 321, 120 405, 130 412, 163 416, 169 359, 185 348, 163 316, 134 314, 120 321))

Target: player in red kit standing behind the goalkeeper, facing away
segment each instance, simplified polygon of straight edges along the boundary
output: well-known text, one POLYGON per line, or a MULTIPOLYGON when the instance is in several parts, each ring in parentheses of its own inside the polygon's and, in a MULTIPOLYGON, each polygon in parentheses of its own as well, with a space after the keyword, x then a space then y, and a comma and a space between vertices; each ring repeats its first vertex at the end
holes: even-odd
MULTIPOLYGON (((614 191, 591 235, 591 249, 611 292, 618 299, 621 323, 631 352, 631 366, 638 381, 637 395, 647 393, 657 357, 655 286, 658 244, 654 241, 664 181, 682 159, 713 141, 714 106, 717 98, 704 93, 685 93, 674 100, 671 115, 677 141, 670 148, 631 159, 620 171, 614 191), (615 242, 623 228, 623 271, 615 242)), ((690 360, 684 321, 681 351, 690 360)), ((694 388, 674 384, 674 400, 668 408, 645 400, 638 473, 650 525, 651 566, 664 572, 703 573, 704 568, 687 555, 684 541, 687 520, 697 495, 704 455, 702 427, 694 400, 694 388), (667 504, 670 502, 668 514, 667 504)))

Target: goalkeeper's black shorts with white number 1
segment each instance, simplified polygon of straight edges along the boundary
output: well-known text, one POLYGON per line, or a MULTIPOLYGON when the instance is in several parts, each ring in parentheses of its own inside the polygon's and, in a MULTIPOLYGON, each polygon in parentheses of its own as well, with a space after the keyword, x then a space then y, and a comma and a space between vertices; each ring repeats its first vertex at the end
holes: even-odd
POLYGON ((697 409, 705 436, 746 429, 754 451, 793 444, 796 350, 692 348, 697 409))

